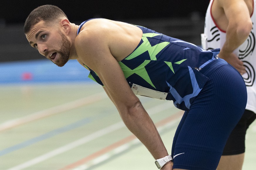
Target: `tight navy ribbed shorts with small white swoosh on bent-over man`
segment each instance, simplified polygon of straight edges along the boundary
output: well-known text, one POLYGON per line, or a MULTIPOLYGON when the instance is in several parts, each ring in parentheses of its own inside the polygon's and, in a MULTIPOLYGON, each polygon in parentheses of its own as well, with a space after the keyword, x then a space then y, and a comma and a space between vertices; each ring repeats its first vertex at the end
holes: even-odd
POLYGON ((242 76, 231 65, 200 70, 209 80, 177 127, 172 145, 173 169, 216 170, 226 141, 245 110, 247 92, 242 76))

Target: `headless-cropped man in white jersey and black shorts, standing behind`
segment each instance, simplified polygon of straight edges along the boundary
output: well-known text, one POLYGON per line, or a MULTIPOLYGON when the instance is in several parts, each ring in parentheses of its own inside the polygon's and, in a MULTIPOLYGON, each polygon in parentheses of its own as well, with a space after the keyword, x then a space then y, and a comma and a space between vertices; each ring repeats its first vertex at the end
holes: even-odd
POLYGON ((247 105, 243 117, 227 141, 218 169, 242 169, 245 133, 256 118, 254 0, 211 0, 206 12, 202 47, 221 48, 219 58, 243 75, 247 86, 247 105), (240 59, 240 60, 239 60, 240 59))

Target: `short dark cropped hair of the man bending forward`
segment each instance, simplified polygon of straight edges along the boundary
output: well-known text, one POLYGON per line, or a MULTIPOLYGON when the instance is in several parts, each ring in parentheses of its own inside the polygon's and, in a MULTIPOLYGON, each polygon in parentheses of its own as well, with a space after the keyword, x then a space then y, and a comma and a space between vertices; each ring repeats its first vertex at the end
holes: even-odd
POLYGON ((39 6, 28 15, 28 18, 24 24, 24 33, 28 33, 31 27, 33 27, 41 20, 50 22, 60 17, 67 18, 66 14, 59 7, 54 5, 39 6))

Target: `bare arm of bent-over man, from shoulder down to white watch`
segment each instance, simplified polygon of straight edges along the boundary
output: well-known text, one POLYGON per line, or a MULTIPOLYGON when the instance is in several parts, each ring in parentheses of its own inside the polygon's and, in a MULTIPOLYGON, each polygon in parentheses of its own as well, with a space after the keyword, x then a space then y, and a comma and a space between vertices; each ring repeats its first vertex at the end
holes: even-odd
MULTIPOLYGON (((115 26, 110 24, 109 27, 113 29, 115 26)), ((79 33, 75 43, 80 60, 98 74, 104 84, 106 93, 116 105, 123 122, 148 148, 152 156, 155 159, 167 156, 167 150, 154 123, 140 100, 131 91, 118 61, 111 53, 110 49, 116 48, 111 46, 112 41, 123 40, 108 32, 108 23, 104 25, 104 28, 98 27, 98 29, 89 29, 79 33)), ((121 30, 117 29, 116 31, 121 30)), ((125 32, 122 32, 122 37, 126 36, 125 34, 125 32)), ((127 44, 129 43, 127 42, 127 44)), ((123 44, 122 50, 126 50, 123 44)))

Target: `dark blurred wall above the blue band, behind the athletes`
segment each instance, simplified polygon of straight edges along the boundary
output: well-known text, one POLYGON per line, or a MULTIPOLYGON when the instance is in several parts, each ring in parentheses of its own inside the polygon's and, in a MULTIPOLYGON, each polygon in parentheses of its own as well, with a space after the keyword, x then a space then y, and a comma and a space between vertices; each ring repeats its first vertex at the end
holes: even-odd
POLYGON ((26 17, 40 5, 52 4, 60 7, 69 20, 77 25, 89 18, 108 18, 143 25, 200 45, 208 3, 209 0, 1 0, 0 62, 43 58, 29 46, 23 33, 26 17))

